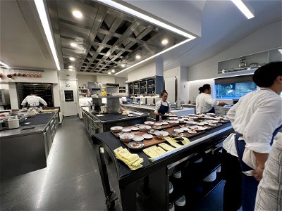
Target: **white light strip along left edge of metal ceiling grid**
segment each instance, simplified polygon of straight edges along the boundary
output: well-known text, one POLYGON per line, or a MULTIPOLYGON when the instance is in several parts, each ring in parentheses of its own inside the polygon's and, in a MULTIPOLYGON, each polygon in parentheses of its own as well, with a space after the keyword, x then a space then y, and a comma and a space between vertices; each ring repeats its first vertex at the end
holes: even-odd
POLYGON ((61 70, 59 58, 58 58, 58 55, 57 55, 57 52, 56 52, 56 47, 55 47, 55 44, 54 44, 54 39, 53 39, 53 36, 51 34, 51 27, 49 25, 47 13, 46 13, 46 10, 45 10, 45 7, 44 7, 44 2, 43 2, 43 0, 34 0, 34 1, 35 1, 35 6, 37 8, 39 18, 40 18, 42 26, 44 28, 45 35, 47 37, 47 40, 48 40, 48 43, 49 43, 49 46, 50 46, 50 49, 51 49, 53 58, 55 60, 57 70, 61 70))

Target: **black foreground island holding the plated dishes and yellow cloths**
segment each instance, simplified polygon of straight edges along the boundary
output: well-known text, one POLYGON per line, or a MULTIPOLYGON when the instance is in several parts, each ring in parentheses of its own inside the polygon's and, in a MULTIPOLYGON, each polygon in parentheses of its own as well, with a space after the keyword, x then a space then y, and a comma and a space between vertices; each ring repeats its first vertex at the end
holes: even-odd
MULTIPOLYGON (((92 141, 97 155, 107 206, 113 207, 114 201, 119 198, 123 210, 136 210, 138 193, 138 202, 145 206, 145 209, 168 210, 171 203, 185 195, 190 197, 186 198, 189 205, 186 206, 187 209, 184 209, 188 210, 188 207, 191 208, 192 205, 195 205, 193 203, 199 201, 201 197, 207 196, 214 188, 214 186, 209 185, 198 198, 195 193, 188 194, 191 191, 190 186, 196 184, 197 179, 204 179, 210 172, 219 167, 220 161, 218 158, 214 158, 214 155, 219 153, 222 141, 231 132, 233 132, 233 129, 230 122, 222 124, 220 127, 190 138, 191 143, 187 146, 176 148, 174 151, 154 158, 153 162, 150 162, 149 157, 142 151, 131 151, 144 159, 143 167, 135 171, 131 171, 123 162, 116 159, 114 149, 119 146, 125 147, 116 136, 111 132, 93 135, 92 141), (105 154, 109 154, 113 160, 112 164, 106 165, 105 154), (207 162, 203 162, 203 166, 195 170, 193 164, 200 158, 204 158, 207 162), (212 160, 217 160, 217 162, 211 162, 212 160), (194 170, 192 170, 193 167, 194 170), (183 171, 183 179, 173 183, 175 191, 173 194, 169 194, 169 182, 173 181, 171 176, 179 170, 183 171), (108 172, 111 172, 111 174, 109 175, 108 172), (184 172, 187 174, 184 174, 184 172), (198 175, 199 172, 201 172, 200 175, 198 175), (108 175, 111 176, 111 179, 108 175), (112 190, 110 187, 114 186, 114 181, 118 185, 116 189, 112 190), (185 190, 185 188, 189 190, 185 190)), ((220 179, 217 180, 217 184, 220 181, 220 179)))

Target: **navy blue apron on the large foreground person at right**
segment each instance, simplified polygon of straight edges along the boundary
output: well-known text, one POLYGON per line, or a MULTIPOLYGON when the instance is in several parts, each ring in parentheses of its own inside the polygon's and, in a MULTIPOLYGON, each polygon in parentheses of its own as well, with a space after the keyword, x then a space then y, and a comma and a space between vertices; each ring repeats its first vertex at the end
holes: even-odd
MULTIPOLYGON (((279 132, 279 130, 282 128, 282 125, 280 127, 278 127, 274 133, 272 134, 272 139, 270 142, 270 146, 272 146, 273 141, 274 141, 274 136, 276 136, 279 132)), ((236 146, 236 150, 238 153, 238 160, 240 162, 240 166, 242 169, 242 172, 247 172, 250 170, 253 170, 251 167, 249 167, 248 165, 245 164, 245 162, 243 162, 243 153, 245 151, 245 145, 246 142, 244 140, 238 140, 241 136, 243 136, 242 134, 239 134, 236 132, 235 135, 235 146, 236 146)), ((255 177, 250 177, 247 176, 245 174, 242 174, 242 207, 243 207, 243 211, 247 210, 247 211, 253 211, 255 210, 255 198, 257 195, 257 186, 259 184, 259 181, 257 181, 255 179, 255 177)))

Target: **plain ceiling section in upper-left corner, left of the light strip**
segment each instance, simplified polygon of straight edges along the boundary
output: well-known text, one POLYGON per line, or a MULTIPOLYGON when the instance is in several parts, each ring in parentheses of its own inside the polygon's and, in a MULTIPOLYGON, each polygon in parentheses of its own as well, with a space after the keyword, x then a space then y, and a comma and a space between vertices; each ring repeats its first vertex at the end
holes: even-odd
POLYGON ((32 1, 0 1, 0 60, 13 68, 56 70, 32 1))

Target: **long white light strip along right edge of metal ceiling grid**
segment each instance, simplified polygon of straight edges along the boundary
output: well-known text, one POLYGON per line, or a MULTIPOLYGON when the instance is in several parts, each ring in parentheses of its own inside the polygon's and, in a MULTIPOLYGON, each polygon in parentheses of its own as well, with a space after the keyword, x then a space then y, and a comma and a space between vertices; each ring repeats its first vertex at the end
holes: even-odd
POLYGON ((163 27, 164 29, 170 30, 171 32, 174 32, 176 34, 180 34, 183 37, 186 37, 186 38, 189 38, 189 39, 195 39, 196 38, 193 35, 188 34, 187 32, 185 32, 183 30, 179 30, 176 27, 168 25, 168 24, 161 22, 161 21, 159 21, 155 18, 149 17, 148 15, 145 15, 143 13, 137 12, 137 11, 131 9, 131 8, 128 8, 127 6, 123 6, 122 4, 118 4, 115 1, 111 1, 111 0, 97 0, 97 1, 100 1, 103 4, 117 8, 118 10, 123 11, 125 13, 128 13, 130 15, 134 15, 135 17, 140 18, 142 20, 145 20, 146 22, 152 23, 154 25, 158 25, 159 27, 163 27))

